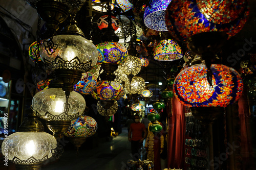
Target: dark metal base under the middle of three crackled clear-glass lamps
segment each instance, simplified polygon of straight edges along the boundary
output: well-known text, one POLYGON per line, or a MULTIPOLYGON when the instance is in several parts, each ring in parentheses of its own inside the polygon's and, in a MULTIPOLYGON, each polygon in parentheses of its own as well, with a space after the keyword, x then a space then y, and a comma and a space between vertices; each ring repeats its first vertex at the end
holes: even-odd
POLYGON ((48 120, 46 125, 50 131, 53 132, 53 136, 57 138, 63 137, 63 132, 65 132, 70 126, 70 120, 60 120, 60 121, 51 121, 48 120))

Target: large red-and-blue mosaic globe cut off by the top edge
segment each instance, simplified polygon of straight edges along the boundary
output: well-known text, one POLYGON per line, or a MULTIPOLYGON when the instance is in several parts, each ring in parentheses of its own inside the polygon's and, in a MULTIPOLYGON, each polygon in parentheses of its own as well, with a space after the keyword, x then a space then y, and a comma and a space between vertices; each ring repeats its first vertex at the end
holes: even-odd
POLYGON ((247 1, 174 0, 166 9, 167 29, 177 40, 201 32, 221 31, 232 37, 241 31, 249 16, 247 1))

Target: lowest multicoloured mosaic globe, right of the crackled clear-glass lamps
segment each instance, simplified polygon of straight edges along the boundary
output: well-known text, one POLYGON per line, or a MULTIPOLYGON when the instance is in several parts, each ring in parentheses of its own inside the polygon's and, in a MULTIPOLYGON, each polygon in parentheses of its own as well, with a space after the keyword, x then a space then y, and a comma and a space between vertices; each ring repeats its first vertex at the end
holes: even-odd
POLYGON ((68 137, 90 137, 98 129, 97 122, 90 116, 79 116, 71 120, 70 127, 63 133, 68 137))

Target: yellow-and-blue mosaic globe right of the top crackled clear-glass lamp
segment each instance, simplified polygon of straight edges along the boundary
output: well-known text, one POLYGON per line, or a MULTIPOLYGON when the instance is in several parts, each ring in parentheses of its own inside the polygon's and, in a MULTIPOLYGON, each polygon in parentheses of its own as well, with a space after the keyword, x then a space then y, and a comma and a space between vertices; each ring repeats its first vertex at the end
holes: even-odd
POLYGON ((123 60, 126 55, 127 51, 124 45, 118 42, 101 42, 96 45, 99 58, 98 64, 102 63, 117 63, 123 60))

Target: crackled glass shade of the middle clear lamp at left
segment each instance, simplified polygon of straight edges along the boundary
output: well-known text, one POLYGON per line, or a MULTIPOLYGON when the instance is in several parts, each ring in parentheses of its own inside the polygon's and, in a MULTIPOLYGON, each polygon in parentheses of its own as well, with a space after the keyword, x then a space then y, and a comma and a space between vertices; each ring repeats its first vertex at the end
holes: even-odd
POLYGON ((86 108, 81 94, 72 91, 68 104, 69 109, 65 112, 66 94, 60 88, 49 88, 39 91, 32 100, 33 110, 36 115, 45 120, 72 120, 81 115, 86 108))

